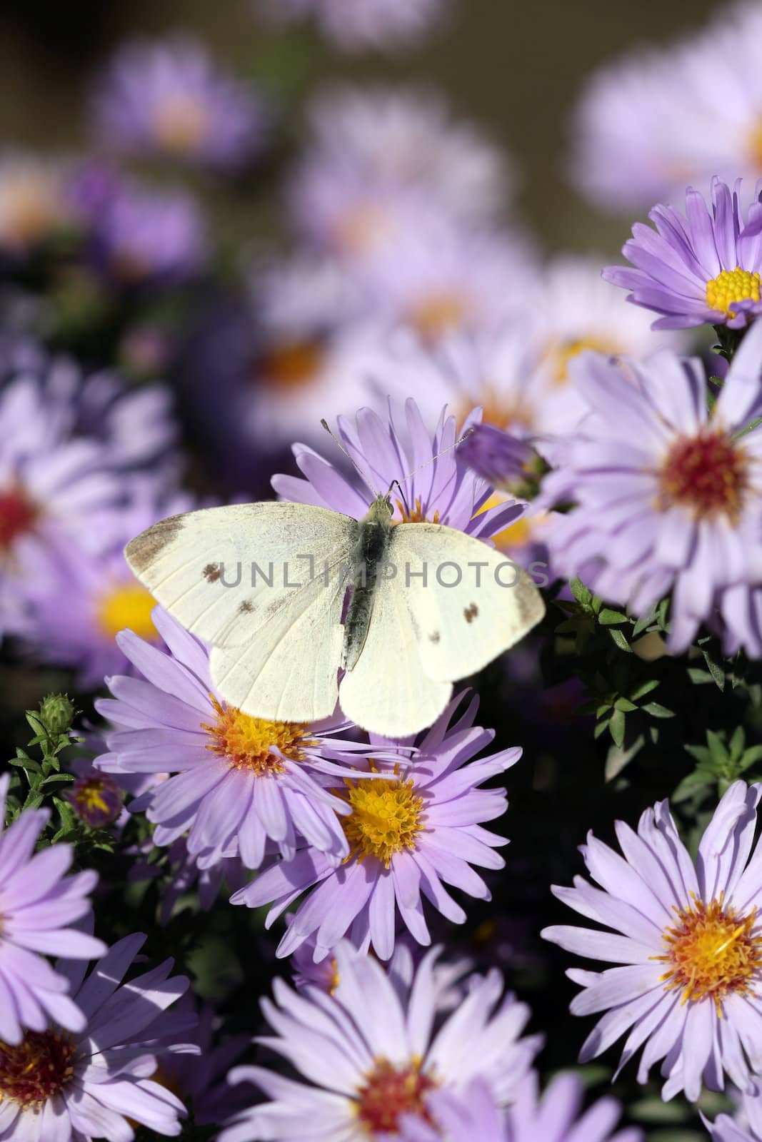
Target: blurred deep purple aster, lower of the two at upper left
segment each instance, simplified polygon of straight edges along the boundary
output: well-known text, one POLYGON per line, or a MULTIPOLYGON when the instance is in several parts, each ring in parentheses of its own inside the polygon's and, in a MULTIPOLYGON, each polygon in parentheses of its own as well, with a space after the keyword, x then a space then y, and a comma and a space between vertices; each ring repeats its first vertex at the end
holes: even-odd
POLYGON ((137 183, 123 183, 95 215, 91 241, 96 267, 128 288, 194 278, 208 254, 195 199, 137 183))

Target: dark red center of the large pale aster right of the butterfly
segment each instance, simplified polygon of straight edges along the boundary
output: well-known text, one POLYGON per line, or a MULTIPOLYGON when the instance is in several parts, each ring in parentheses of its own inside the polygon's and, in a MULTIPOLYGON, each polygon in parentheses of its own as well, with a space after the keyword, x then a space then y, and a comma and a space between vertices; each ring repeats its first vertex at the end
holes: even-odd
POLYGON ((659 473, 659 507, 692 508, 696 516, 736 517, 748 488, 746 453, 724 432, 705 431, 672 445, 659 473))

